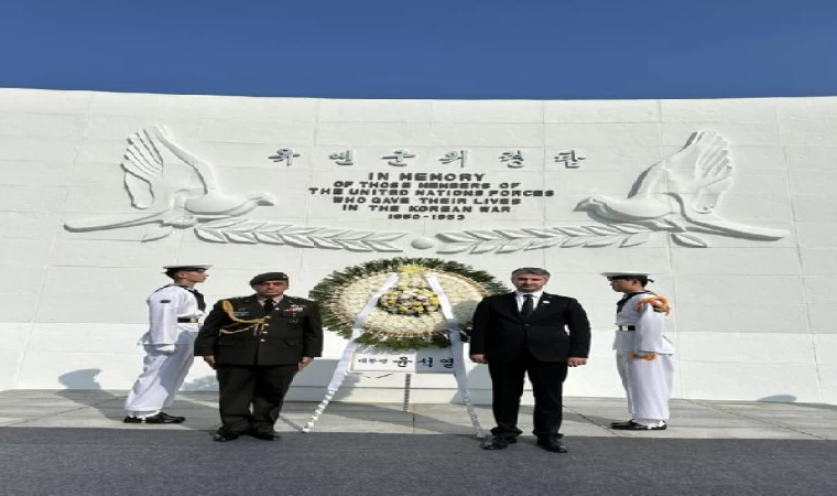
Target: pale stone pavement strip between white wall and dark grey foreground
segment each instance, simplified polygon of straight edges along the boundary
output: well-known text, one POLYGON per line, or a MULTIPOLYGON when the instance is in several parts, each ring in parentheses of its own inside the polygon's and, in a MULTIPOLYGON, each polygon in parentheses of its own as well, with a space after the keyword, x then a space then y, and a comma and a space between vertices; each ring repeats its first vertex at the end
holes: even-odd
MULTIPOLYGON (((165 429, 208 431, 219 424, 217 393, 184 392, 166 411, 188 420, 180 425, 124 424, 127 391, 7 390, 0 391, 0 427, 165 429)), ((314 412, 314 402, 289 402, 276 424, 280 432, 298 432, 314 412)), ((491 410, 476 408, 483 428, 492 427, 491 410)), ((521 408, 521 429, 531 432, 531 407, 521 408)), ((837 406, 742 401, 673 400, 665 431, 626 432, 608 429, 627 420, 623 399, 565 398, 564 427, 568 439, 769 439, 837 440, 837 406)), ((469 434, 474 432, 463 405, 333 402, 313 432, 381 434, 469 434)))

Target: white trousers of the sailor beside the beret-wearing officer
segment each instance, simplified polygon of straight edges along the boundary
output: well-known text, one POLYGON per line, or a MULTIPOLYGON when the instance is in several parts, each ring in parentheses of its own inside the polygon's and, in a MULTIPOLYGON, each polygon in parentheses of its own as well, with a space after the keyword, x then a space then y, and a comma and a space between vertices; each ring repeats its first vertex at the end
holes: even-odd
POLYGON ((174 345, 174 353, 169 355, 157 352, 151 345, 143 347, 145 358, 142 363, 142 374, 124 401, 124 409, 129 414, 150 414, 171 407, 195 360, 195 348, 192 344, 174 345))

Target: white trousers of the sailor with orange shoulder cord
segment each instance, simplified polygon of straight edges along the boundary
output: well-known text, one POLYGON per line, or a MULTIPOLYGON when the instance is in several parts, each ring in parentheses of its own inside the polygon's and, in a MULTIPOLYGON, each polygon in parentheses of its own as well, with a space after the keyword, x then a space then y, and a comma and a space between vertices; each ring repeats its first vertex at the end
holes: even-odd
POLYGON ((643 360, 631 358, 631 352, 617 352, 616 365, 633 420, 643 424, 668 420, 674 380, 672 356, 657 354, 656 359, 643 360))

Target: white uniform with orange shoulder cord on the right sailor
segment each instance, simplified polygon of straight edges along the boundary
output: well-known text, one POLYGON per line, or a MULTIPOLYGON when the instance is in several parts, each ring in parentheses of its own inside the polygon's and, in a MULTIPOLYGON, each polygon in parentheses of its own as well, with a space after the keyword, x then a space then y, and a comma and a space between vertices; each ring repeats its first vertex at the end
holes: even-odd
POLYGON ((634 331, 617 331, 617 368, 628 393, 628 411, 634 422, 644 425, 668 419, 668 398, 672 393, 674 366, 671 355, 674 346, 663 335, 664 313, 654 311, 651 304, 640 301, 656 296, 654 293, 637 293, 630 296, 616 314, 617 325, 632 325, 634 331), (634 353, 655 353, 656 358, 644 360, 631 358, 634 353))

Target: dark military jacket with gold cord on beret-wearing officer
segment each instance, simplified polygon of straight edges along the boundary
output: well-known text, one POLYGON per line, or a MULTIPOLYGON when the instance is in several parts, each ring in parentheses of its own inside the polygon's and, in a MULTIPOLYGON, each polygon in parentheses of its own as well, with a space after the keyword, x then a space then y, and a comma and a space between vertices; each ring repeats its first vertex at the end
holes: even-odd
POLYGON ((256 294, 221 300, 195 339, 195 355, 214 355, 220 365, 291 365, 304 356, 322 354, 317 304, 286 295, 270 314, 264 313, 256 294))

